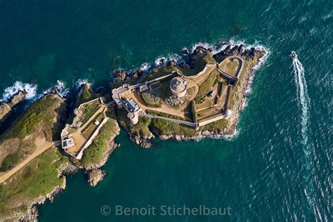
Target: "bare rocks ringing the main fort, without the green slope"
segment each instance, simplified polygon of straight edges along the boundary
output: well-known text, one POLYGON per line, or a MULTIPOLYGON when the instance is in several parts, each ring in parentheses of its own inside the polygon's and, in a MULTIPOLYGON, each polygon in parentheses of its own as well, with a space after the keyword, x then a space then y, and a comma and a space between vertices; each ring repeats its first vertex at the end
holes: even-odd
MULTIPOLYGON (((240 117, 240 112, 244 109, 244 103, 247 99, 247 91, 251 89, 252 79, 254 78, 254 74, 258 67, 264 62, 268 55, 268 51, 263 47, 254 47, 254 46, 245 46, 244 44, 230 44, 230 42, 221 42, 216 46, 216 48, 221 48, 217 53, 214 53, 213 58, 217 63, 220 63, 224 58, 230 55, 238 55, 242 57, 244 60, 249 62, 249 67, 247 67, 246 74, 242 77, 242 81, 240 81, 239 90, 237 91, 237 100, 235 102, 235 110, 233 110, 233 115, 228 119, 228 125, 225 129, 214 129, 214 131, 202 130, 198 132, 197 136, 185 136, 182 134, 173 134, 173 135, 163 135, 152 133, 152 136, 142 136, 140 133, 131 133, 131 131, 127 130, 130 134, 131 141, 140 145, 142 148, 150 148, 152 143, 150 142, 150 138, 154 136, 158 136, 162 140, 174 139, 176 141, 200 141, 203 138, 233 138, 237 134, 237 124, 240 117)), ((162 70, 168 65, 179 65, 181 67, 194 67, 195 64, 202 58, 202 56, 207 55, 207 52, 216 51, 212 48, 205 48, 204 46, 197 46, 192 53, 188 51, 188 49, 184 48, 182 50, 182 54, 187 59, 186 62, 181 61, 177 63, 175 60, 167 61, 162 58, 159 61, 159 65, 154 67, 150 67, 149 70, 143 72, 143 70, 131 70, 130 72, 126 72, 124 70, 116 70, 115 78, 113 79, 112 84, 119 84, 119 82, 138 82, 143 78, 143 74, 151 74, 156 70, 162 70)), ((126 128, 126 126, 125 126, 126 128)))

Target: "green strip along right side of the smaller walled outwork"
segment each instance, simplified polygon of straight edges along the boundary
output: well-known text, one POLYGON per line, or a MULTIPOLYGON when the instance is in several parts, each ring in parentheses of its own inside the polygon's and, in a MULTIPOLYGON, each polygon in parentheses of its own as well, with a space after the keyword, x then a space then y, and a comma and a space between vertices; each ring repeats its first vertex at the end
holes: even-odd
POLYGON ((88 166, 89 164, 98 164, 103 160, 103 155, 107 150, 108 143, 115 137, 117 129, 117 117, 115 116, 115 110, 106 112, 109 119, 102 126, 100 132, 93 140, 93 143, 84 150, 84 156, 81 159, 81 164, 88 166))

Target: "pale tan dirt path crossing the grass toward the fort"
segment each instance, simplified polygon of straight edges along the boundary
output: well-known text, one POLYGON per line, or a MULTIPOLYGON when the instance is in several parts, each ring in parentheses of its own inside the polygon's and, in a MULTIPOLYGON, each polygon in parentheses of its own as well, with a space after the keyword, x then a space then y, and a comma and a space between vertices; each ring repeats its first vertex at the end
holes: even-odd
POLYGON ((13 174, 15 174, 17 171, 22 169, 23 166, 25 166, 30 161, 32 161, 32 159, 34 159, 35 157, 38 157, 39 155, 41 155, 43 152, 45 152, 46 150, 48 150, 48 148, 51 148, 52 146, 53 146, 53 142, 46 142, 44 145, 41 145, 39 148, 37 148, 37 150, 32 152, 32 154, 30 156, 28 156, 25 160, 20 162, 20 164, 18 164, 13 169, 6 172, 5 174, 2 174, 0 176, 0 183, 4 183, 8 178, 13 176, 13 174))

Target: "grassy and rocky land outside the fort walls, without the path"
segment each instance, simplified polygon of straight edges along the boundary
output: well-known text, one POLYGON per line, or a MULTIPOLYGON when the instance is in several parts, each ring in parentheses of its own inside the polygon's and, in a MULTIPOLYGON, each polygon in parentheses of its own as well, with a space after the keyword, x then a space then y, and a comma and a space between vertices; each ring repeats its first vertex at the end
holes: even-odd
MULTIPOLYGON (((230 110, 233 115, 228 119, 221 119, 195 130, 165 119, 150 119, 139 117, 138 124, 131 124, 126 117, 124 109, 116 109, 110 103, 110 94, 105 91, 95 92, 90 84, 83 84, 77 95, 77 107, 79 104, 103 96, 107 103, 107 122, 102 126, 91 145, 84 150, 82 159, 74 159, 63 155, 57 148, 49 148, 43 154, 35 157, 29 164, 11 176, 5 183, 0 185, 3 195, 0 197, 0 217, 9 220, 34 221, 38 218, 38 206, 46 200, 53 200, 56 195, 65 189, 66 176, 76 174, 79 169, 84 171, 87 182, 96 186, 106 171, 100 169, 109 159, 110 155, 119 144, 115 138, 119 135, 120 127, 129 132, 131 140, 143 148, 150 148, 150 139, 155 136, 166 140, 173 138, 176 141, 195 140, 204 137, 225 138, 233 136, 237 128, 240 112, 246 100, 246 91, 252 84, 256 68, 263 62, 267 51, 263 48, 246 47, 243 44, 233 45, 221 43, 219 51, 211 48, 197 46, 192 53, 183 50, 185 61, 177 63, 174 60, 159 60, 159 64, 149 70, 116 70, 111 86, 115 87, 124 83, 141 83, 170 72, 186 72, 197 74, 207 64, 221 63, 230 55, 242 58, 246 66, 240 74, 239 82, 235 86, 230 97, 230 110), (44 181, 44 182, 41 182, 44 181)), ((11 112, 15 106, 25 98, 24 92, 15 95, 10 103, 1 103, 1 118, 11 112), (3 114, 3 115, 2 115, 3 114)), ((68 121, 70 96, 62 98, 56 93, 49 93, 35 101, 18 118, 10 129, 0 136, 0 164, 1 171, 6 172, 16 164, 32 154, 34 149, 46 142, 59 139, 60 131, 68 121), (25 155, 22 155, 22 154, 25 155)), ((71 118, 70 118, 71 119, 71 118)), ((0 174, 1 176, 1 174, 0 174)))

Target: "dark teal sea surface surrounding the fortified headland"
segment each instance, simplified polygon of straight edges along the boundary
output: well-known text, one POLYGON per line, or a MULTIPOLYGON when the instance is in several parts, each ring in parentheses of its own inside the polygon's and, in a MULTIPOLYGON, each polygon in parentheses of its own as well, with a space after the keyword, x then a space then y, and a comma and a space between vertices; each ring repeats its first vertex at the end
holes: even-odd
MULTIPOLYGON (((333 1, 0 1, 0 99, 232 41, 270 53, 229 140, 121 144, 91 188, 80 172, 40 221, 331 221, 333 1), (298 59, 290 57, 296 51, 298 59), (1 94, 3 93, 3 95, 1 94), (103 215, 101 207, 111 211, 103 215), (227 208, 225 216, 117 216, 122 207, 227 208)), ((107 212, 106 212, 107 213, 107 212)))

